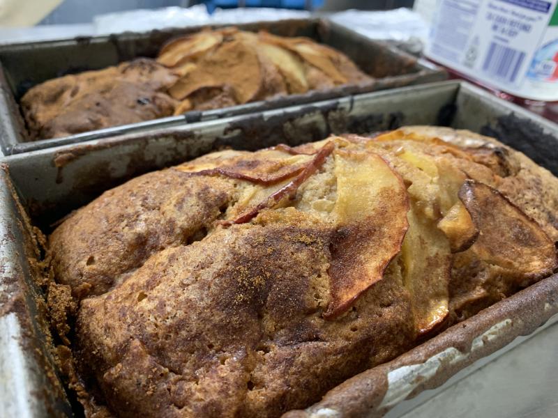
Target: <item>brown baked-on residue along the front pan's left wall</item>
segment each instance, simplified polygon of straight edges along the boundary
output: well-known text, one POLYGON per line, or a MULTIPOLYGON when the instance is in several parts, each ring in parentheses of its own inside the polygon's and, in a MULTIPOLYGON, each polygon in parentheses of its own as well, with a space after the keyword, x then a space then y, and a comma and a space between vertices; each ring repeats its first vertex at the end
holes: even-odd
MULTIPOLYGON (((18 345, 31 358, 25 367, 31 367, 24 378, 35 378, 28 382, 33 386, 33 396, 50 416, 61 413, 70 416, 68 394, 56 372, 56 340, 50 332, 50 314, 45 302, 48 277, 45 272, 44 235, 31 225, 13 187, 8 169, 0 167, 3 207, 13 215, 1 222, 0 242, 0 318, 15 316, 20 327, 18 345), (36 368, 36 369, 35 369, 36 368)), ((8 321, 8 320, 6 320, 8 321)), ((6 377, 4 377, 6 378, 6 377)), ((9 379, 9 378, 8 378, 9 379)))

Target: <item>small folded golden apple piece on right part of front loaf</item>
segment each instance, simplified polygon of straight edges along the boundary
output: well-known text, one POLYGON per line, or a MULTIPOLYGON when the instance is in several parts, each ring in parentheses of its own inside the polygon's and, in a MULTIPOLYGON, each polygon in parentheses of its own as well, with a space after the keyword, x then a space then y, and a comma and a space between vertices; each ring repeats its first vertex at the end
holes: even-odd
POLYGON ((461 201, 455 203, 446 216, 440 219, 438 228, 446 234, 452 253, 465 251, 478 237, 478 229, 461 201))

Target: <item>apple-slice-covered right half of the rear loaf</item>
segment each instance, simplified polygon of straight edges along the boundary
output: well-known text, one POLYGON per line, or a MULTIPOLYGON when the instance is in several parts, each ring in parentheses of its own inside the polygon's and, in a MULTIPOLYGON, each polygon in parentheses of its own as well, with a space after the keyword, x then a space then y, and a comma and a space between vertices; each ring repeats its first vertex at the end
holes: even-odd
POLYGON ((180 79, 175 113, 370 81, 344 54, 308 38, 226 28, 172 40, 157 59, 180 79))

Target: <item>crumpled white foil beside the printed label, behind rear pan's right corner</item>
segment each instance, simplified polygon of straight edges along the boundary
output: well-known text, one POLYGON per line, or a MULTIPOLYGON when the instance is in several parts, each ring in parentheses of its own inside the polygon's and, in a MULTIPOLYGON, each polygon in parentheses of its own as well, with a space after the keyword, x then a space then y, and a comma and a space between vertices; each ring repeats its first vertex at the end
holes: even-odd
POLYGON ((377 12, 352 9, 329 18, 370 39, 395 41, 414 54, 421 52, 428 40, 428 25, 421 15, 408 8, 377 12))

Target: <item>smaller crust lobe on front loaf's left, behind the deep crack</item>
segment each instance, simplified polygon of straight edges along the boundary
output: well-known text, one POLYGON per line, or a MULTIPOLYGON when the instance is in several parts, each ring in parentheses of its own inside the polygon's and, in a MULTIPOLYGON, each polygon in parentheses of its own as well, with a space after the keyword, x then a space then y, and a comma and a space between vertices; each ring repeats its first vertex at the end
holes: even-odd
POLYGON ((78 297, 104 293, 153 252, 203 236, 232 188, 223 178, 166 170, 105 192, 50 236, 57 281, 78 297))

